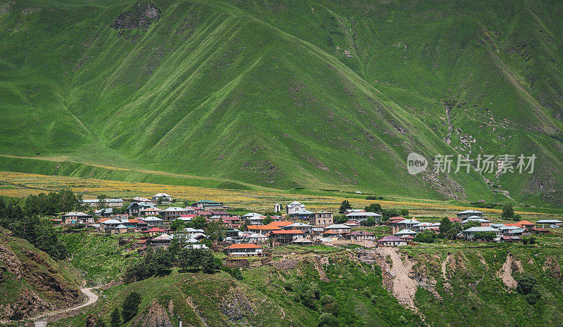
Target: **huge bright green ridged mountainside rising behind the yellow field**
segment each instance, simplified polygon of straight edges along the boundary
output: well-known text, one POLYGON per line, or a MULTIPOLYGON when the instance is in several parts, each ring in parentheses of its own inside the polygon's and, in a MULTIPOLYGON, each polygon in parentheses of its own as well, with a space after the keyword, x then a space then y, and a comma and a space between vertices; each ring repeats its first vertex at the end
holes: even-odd
MULTIPOLYGON (((563 202, 559 3, 138 4, 1 5, 1 154, 271 188, 563 202), (411 176, 410 151, 538 160, 533 174, 411 176)), ((53 173, 93 173, 62 165, 53 173)))

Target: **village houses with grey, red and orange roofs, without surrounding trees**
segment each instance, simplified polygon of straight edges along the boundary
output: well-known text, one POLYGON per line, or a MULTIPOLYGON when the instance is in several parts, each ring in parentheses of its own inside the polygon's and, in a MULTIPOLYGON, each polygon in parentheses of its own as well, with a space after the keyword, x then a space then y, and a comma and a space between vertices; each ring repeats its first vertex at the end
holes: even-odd
MULTIPOLYGON (((438 233, 439 222, 419 222, 416 219, 392 217, 385 224, 390 227, 391 235, 379 238, 368 231, 353 230, 368 219, 381 223, 381 214, 364 210, 346 210, 343 224, 334 224, 332 212, 312 212, 303 203, 294 201, 288 205, 274 205, 276 215, 265 215, 249 212, 242 216, 228 212, 229 207, 212 200, 200 200, 186 207, 169 206, 161 209, 158 205, 172 203, 172 197, 166 193, 153 195, 151 199, 136 197, 126 207, 125 214, 114 214, 115 207, 122 207, 122 199, 83 200, 89 207, 101 207, 94 215, 84 212, 68 212, 63 215, 64 224, 87 224, 103 233, 143 233, 144 237, 137 242, 138 248, 144 250, 147 245, 167 246, 175 238, 182 238, 194 248, 207 248, 202 241, 208 239, 202 229, 182 229, 172 231, 170 224, 177 219, 190 222, 196 217, 204 217, 205 222, 220 221, 224 224, 225 236, 220 242, 225 245, 224 252, 231 256, 262 255, 262 246, 311 243, 334 243, 335 241, 371 242, 381 246, 400 246, 412 244, 417 233, 430 230, 438 233), (284 210, 285 209, 285 210, 284 210), (285 211, 284 214, 281 212, 285 211), (269 222, 265 224, 265 220, 269 222)), ((516 242, 521 236, 529 233, 547 233, 550 228, 559 227, 562 222, 555 219, 539 220, 536 224, 520 221, 514 224, 493 224, 483 217, 483 212, 466 210, 458 212, 451 222, 467 224, 458 238, 474 240, 479 232, 492 232, 495 241, 516 242), (476 224, 475 224, 476 223, 476 224)))

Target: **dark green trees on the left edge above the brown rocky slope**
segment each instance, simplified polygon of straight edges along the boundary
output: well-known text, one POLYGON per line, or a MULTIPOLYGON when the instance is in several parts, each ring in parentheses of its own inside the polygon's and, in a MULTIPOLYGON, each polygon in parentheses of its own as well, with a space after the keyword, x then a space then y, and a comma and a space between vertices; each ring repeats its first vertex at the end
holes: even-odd
POLYGON ((13 236, 24 238, 55 259, 68 257, 66 245, 58 238, 58 233, 51 223, 39 218, 37 214, 28 212, 27 209, 22 209, 17 201, 0 197, 0 226, 11 230, 13 236))

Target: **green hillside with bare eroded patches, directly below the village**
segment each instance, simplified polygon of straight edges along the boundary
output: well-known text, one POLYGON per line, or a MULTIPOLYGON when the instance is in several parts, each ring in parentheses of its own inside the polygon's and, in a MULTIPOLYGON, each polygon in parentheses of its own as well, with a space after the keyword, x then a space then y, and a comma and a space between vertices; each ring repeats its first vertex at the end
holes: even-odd
POLYGON ((169 319, 172 325, 180 319, 191 326, 317 326, 322 312, 335 314, 340 326, 558 326, 563 316, 557 247, 407 247, 393 259, 384 257, 393 264, 383 274, 379 264, 359 262, 354 251, 289 252, 293 248, 285 254, 301 260, 295 268, 245 269, 242 281, 224 272, 173 271, 114 286, 102 292, 107 302, 58 325, 82 326, 88 314, 108 322, 133 290, 141 293, 142 302, 137 318, 125 326, 143 326, 151 319, 169 319), (510 284, 524 275, 536 281, 540 297, 535 303, 510 284), (405 283, 413 283, 414 289, 405 283), (396 295, 399 300, 393 297, 395 287, 402 290, 396 295), (311 300, 311 290, 317 290, 319 299, 330 295, 334 302, 311 300), (401 304, 411 296, 414 310, 401 304))

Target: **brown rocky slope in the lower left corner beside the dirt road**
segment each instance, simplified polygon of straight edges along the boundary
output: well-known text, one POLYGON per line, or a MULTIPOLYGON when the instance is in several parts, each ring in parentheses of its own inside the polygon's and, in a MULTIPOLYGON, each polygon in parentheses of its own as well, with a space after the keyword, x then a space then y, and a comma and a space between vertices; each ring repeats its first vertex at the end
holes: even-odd
POLYGON ((72 269, 0 230, 0 321, 30 318, 82 300, 72 269))

